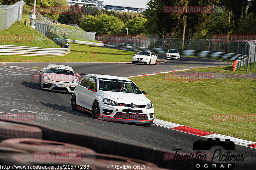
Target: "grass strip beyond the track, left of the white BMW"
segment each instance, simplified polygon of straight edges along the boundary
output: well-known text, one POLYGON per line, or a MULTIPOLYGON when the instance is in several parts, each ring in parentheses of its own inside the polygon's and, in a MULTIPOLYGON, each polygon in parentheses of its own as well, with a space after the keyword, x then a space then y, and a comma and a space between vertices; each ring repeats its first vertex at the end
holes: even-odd
POLYGON ((70 53, 58 57, 1 55, 0 62, 131 62, 134 52, 70 43, 70 53))

